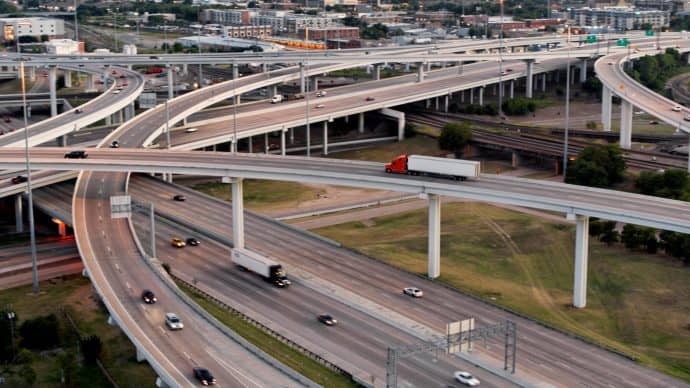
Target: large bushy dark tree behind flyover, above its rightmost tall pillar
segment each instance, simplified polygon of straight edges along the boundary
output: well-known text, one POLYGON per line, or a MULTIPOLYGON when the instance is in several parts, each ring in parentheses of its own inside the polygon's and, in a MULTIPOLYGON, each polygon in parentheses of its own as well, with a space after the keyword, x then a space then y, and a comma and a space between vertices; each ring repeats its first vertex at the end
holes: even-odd
POLYGON ((625 160, 617 145, 585 147, 567 170, 565 181, 584 186, 609 187, 623 180, 625 160))

